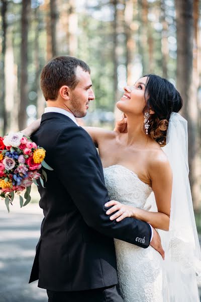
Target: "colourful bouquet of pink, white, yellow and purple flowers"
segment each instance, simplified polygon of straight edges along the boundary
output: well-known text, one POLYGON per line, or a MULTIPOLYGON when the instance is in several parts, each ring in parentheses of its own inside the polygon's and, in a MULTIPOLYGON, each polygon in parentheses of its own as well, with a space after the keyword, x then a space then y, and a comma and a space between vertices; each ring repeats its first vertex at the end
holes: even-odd
POLYGON ((53 170, 45 161, 45 149, 37 146, 30 137, 22 132, 9 133, 0 137, 0 196, 5 199, 7 209, 12 204, 15 193, 20 196, 20 206, 27 205, 30 200, 32 183, 40 179, 44 187, 47 174, 42 166, 53 170), (25 191, 24 198, 20 195, 25 191))

